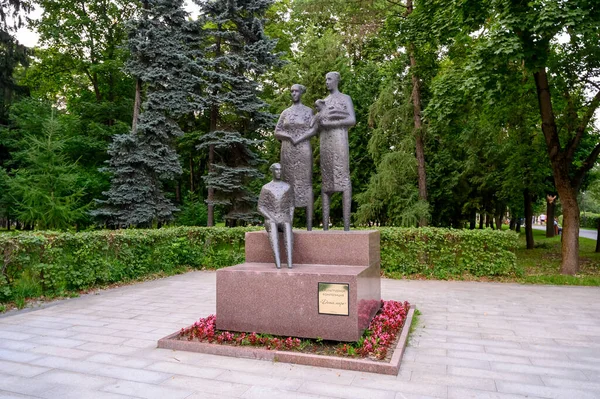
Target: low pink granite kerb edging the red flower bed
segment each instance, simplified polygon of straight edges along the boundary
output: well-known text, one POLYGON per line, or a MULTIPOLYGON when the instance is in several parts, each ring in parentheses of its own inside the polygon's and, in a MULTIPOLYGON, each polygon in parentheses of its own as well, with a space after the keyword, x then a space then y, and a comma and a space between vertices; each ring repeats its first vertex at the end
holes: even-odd
POLYGON ((404 349, 406 348, 406 341, 408 339, 408 333, 410 331, 413 315, 414 307, 411 306, 411 309, 406 317, 406 322, 402 327, 400 337, 398 338, 398 343, 393 349, 392 358, 389 362, 348 357, 321 356, 301 352, 271 351, 248 346, 228 346, 198 341, 179 340, 177 339, 179 332, 159 340, 158 348, 257 360, 270 360, 275 362, 303 364, 315 367, 364 371, 368 373, 397 375, 398 371, 400 370, 400 363, 402 361, 402 356, 404 355, 404 349))

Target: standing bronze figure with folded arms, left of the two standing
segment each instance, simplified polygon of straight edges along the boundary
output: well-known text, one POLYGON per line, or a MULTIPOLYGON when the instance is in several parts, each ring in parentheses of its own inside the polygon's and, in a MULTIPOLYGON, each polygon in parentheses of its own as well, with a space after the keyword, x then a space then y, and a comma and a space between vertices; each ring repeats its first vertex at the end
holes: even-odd
POLYGON ((300 102, 306 88, 293 85, 292 106, 281 113, 275 137, 281 141, 282 179, 294 189, 294 207, 306 208, 306 227, 312 230, 312 149, 310 138, 317 134, 317 126, 311 124, 313 111, 300 102))

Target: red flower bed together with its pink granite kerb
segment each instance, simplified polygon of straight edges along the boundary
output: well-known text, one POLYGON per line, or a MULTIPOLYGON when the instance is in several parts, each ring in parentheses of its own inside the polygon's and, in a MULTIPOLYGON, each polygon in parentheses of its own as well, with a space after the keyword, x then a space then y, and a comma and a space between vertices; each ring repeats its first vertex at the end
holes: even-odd
POLYGON ((414 307, 407 302, 395 301, 382 301, 382 305, 382 312, 375 316, 369 330, 357 343, 219 331, 212 328, 215 316, 209 316, 159 340, 158 348, 397 375, 414 307), (396 321, 390 320, 389 312, 385 314, 383 311, 386 305, 391 309, 402 309, 403 313, 402 323, 397 326, 396 333, 391 334, 392 337, 389 330, 382 327, 394 326, 396 321), (376 320, 382 314, 385 317, 376 320), (374 323, 379 323, 379 327, 372 330, 374 323), (250 341, 255 344, 251 345, 250 341), (386 343, 383 350, 373 347, 373 343, 379 341, 386 343))

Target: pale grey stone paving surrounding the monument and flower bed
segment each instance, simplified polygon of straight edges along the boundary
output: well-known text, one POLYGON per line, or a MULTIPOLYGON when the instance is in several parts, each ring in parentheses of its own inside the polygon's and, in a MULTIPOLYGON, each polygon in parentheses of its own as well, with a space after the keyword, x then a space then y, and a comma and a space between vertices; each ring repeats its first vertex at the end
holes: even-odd
POLYGON ((0 317, 1 398, 600 398, 600 289, 383 280, 422 312, 399 375, 156 349, 215 311, 193 272, 0 317))

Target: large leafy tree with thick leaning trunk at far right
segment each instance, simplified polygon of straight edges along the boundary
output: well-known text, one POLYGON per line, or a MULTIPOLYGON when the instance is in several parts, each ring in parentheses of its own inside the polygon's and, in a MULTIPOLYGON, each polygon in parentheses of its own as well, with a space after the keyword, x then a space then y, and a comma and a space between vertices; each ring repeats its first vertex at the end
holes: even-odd
POLYGON ((430 26, 443 37, 476 36, 481 51, 468 64, 485 87, 498 72, 487 65, 522 64, 536 85, 539 126, 563 206, 561 272, 579 270, 577 192, 600 154, 593 116, 600 105, 600 10, 595 2, 425 1, 430 26), (462 36, 461 36, 462 35, 462 36))

